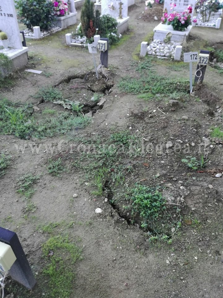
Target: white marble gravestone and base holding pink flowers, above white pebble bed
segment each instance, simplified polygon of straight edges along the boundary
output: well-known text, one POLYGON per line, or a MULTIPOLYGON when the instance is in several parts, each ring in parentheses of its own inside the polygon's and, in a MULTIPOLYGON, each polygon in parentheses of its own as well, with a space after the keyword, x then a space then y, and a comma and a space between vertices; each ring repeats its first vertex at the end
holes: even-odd
MULTIPOLYGON (((170 3, 175 3, 176 7, 174 7, 174 11, 182 12, 190 5, 192 7, 191 19, 193 18, 193 14, 195 11, 195 4, 196 0, 165 0, 164 2, 164 11, 167 11, 169 14, 171 12, 170 3)), ((185 31, 176 31, 173 30, 172 25, 166 25, 160 23, 154 29, 154 40, 161 40, 163 41, 166 36, 170 36, 171 41, 176 41, 182 43, 184 40, 187 40, 189 37, 190 30, 192 29, 192 25, 188 26, 185 31)))

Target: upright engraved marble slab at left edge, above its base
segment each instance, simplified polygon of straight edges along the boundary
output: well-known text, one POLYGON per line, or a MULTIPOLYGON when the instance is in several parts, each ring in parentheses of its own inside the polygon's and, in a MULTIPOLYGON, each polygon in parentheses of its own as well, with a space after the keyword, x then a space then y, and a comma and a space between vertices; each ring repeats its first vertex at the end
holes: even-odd
POLYGON ((9 47, 23 48, 14 0, 0 0, 0 29, 8 36, 9 47))

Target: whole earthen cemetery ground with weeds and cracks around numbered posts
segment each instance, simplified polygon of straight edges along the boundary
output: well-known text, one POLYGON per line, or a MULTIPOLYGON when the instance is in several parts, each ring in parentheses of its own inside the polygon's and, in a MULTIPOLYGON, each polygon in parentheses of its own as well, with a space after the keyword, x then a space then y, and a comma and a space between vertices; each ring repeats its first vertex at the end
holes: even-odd
MULTIPOLYGON (((222 74, 208 65, 190 96, 188 64, 140 58, 158 21, 136 3, 107 81, 64 45, 73 26, 28 40, 43 74, 1 88, 1 226, 37 279, 28 291, 9 277, 8 297, 222 296, 222 74)), ((223 53, 219 32, 193 28, 185 51, 223 53)))

